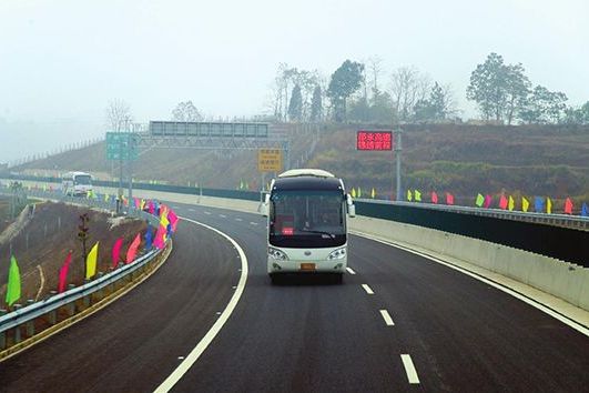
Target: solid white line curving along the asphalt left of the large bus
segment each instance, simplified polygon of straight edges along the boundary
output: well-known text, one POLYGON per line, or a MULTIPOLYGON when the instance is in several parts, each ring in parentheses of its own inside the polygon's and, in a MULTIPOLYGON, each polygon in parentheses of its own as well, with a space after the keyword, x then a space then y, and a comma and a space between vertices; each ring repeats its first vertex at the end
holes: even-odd
POLYGON ((235 306, 237 305, 237 302, 240 301, 240 298, 242 296, 242 293, 245 289, 245 282, 247 281, 247 258, 245 256, 245 253, 243 252, 242 248, 235 240, 230 238, 227 234, 221 232, 220 230, 203 224, 201 222, 186 219, 181 216, 182 220, 192 222, 196 225, 204 226, 211 231, 214 231, 222 235, 223 238, 227 239, 233 246, 237 250, 237 253, 240 254, 240 259, 242 261, 242 269, 241 269, 241 275, 240 275, 240 282, 237 283, 237 289, 235 292, 233 292, 233 296, 231 296, 230 302, 227 303, 227 306, 225 310, 223 310, 223 313, 219 316, 216 322, 213 324, 213 326, 206 332, 204 337, 196 344, 196 346, 190 352, 190 354, 182 361, 182 363, 179 364, 179 366, 165 379, 164 382, 158 389, 155 390, 156 393, 163 393, 169 392, 176 383, 180 381, 180 379, 189 371, 189 369, 199 360, 199 357, 202 355, 202 353, 206 350, 206 347, 211 344, 211 342, 214 340, 214 337, 219 334, 225 322, 227 322, 229 318, 231 316, 231 313, 233 310, 235 310, 235 306))

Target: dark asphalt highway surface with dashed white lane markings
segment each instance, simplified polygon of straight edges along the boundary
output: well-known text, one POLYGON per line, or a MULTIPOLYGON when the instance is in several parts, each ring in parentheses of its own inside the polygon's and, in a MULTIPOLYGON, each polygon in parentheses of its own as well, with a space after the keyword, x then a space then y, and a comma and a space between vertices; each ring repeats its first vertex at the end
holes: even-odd
MULTIPOLYGON (((353 235, 343 285, 273 286, 263 218, 171 204, 232 236, 248 262, 231 318, 172 391, 588 390, 589 339, 488 284, 353 235)), ((229 241, 183 221, 152 278, 0 363, 0 391, 155 390, 220 318, 240 269, 229 241)))

